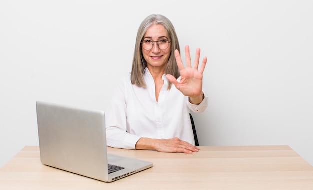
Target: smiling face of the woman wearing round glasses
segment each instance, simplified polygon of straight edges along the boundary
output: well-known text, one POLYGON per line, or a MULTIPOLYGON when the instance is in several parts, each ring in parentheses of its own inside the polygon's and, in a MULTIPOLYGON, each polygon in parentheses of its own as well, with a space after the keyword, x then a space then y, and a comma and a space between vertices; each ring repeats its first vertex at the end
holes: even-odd
MULTIPOLYGON (((161 24, 152 25, 146 31, 142 41, 170 41, 165 27, 161 24)), ((165 50, 161 50, 157 45, 157 42, 153 42, 153 47, 150 50, 145 50, 142 47, 142 54, 147 62, 147 67, 151 71, 152 69, 163 69, 168 62, 171 50, 171 43, 167 43, 168 47, 165 50)), ((143 44, 142 44, 143 46, 143 44)))

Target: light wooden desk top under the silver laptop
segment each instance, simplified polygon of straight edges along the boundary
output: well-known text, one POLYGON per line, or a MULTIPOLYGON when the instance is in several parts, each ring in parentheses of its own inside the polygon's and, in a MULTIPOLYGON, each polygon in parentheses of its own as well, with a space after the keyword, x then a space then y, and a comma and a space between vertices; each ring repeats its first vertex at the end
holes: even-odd
POLYGON ((105 183, 42 165, 26 146, 0 168, 0 189, 313 189, 313 166, 289 146, 200 146, 193 154, 108 148, 153 167, 105 183))

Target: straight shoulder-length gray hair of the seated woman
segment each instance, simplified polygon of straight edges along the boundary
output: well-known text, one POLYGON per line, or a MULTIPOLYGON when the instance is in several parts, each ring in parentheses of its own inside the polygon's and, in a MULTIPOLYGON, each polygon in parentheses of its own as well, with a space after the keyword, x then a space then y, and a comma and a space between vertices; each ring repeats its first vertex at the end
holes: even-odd
MULTIPOLYGON (((171 53, 168 58, 168 62, 165 67, 165 74, 171 74, 176 79, 180 76, 180 71, 176 63, 174 51, 178 49, 180 52, 178 37, 176 35, 175 28, 171 21, 163 15, 152 14, 146 17, 140 24, 140 27, 137 32, 135 50, 133 54, 132 68, 131 68, 131 83, 135 84, 138 87, 146 87, 146 84, 143 80, 143 71, 147 67, 147 63, 143 58, 141 41, 148 30, 152 25, 161 24, 165 27, 169 38, 171 39, 171 53)), ((170 89, 171 83, 169 82, 168 89, 170 89)))

